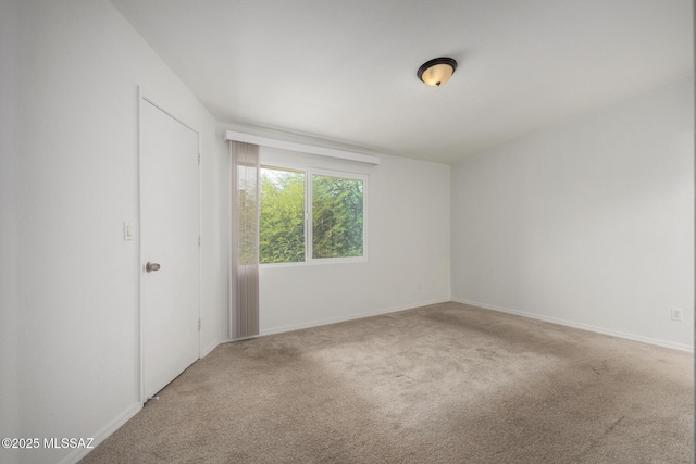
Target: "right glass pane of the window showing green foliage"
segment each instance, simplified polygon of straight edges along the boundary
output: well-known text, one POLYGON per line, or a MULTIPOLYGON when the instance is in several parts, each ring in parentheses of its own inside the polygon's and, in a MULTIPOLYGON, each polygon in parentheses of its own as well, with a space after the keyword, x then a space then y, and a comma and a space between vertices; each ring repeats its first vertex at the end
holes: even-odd
POLYGON ((363 181, 312 175, 312 258, 362 256, 363 181))

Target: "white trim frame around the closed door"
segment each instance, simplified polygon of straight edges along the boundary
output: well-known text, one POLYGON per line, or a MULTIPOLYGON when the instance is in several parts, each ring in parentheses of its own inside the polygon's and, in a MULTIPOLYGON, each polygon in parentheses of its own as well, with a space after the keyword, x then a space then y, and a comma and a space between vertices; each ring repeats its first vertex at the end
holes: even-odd
MULTIPOLYGON (((142 310, 145 306, 144 301, 144 288, 145 288, 145 264, 144 264, 144 249, 142 249, 142 191, 144 191, 144 179, 142 179, 142 104, 145 102, 151 104, 157 108, 167 116, 172 117, 179 124, 184 125, 188 129, 196 133, 196 138, 198 139, 198 236, 201 237, 201 225, 202 225, 202 186, 201 186, 201 137, 200 130, 198 130, 191 124, 188 124, 185 120, 178 117, 175 113, 169 111, 166 106, 159 103, 157 98, 151 97, 149 91, 144 90, 142 86, 137 87, 138 91, 138 117, 137 117, 137 140, 138 140, 138 225, 137 225, 137 234, 138 234, 138 363, 139 363, 139 398, 140 404, 145 404, 148 401, 148 398, 145 398, 145 356, 144 356, 144 321, 142 321, 142 310)), ((198 247, 198 359, 201 356, 201 302, 202 302, 202 263, 201 263, 201 247, 202 243, 198 247)))

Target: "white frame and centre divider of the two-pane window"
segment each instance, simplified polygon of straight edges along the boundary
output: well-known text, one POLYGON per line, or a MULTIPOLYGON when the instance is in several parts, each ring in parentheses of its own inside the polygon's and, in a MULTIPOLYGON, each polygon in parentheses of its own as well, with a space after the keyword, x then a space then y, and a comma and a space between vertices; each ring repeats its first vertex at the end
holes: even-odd
MULTIPOLYGON (((326 170, 319 167, 297 166, 286 163, 261 163, 260 170, 279 170, 290 172, 301 172, 304 175, 304 261, 289 263, 259 263, 263 267, 288 267, 288 266, 308 266, 322 264, 344 264, 344 263, 363 263, 368 261, 368 191, 369 179, 368 174, 353 172, 345 172, 337 170, 326 170), (362 255, 361 256, 341 256, 341 258, 313 258, 313 176, 338 177, 344 179, 362 181, 362 255)), ((260 185, 260 184, 259 184, 260 185)), ((263 201, 263 199, 261 199, 263 201)), ((259 222, 261 209, 259 208, 259 222)), ((259 228, 259 234, 261 229, 259 228)))

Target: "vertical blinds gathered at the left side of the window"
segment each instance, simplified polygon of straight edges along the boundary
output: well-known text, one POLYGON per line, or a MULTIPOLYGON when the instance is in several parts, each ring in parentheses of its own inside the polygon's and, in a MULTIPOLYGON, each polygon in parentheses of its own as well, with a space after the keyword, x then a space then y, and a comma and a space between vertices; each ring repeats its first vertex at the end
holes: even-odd
POLYGON ((259 146, 231 141, 232 338, 259 335, 259 146))

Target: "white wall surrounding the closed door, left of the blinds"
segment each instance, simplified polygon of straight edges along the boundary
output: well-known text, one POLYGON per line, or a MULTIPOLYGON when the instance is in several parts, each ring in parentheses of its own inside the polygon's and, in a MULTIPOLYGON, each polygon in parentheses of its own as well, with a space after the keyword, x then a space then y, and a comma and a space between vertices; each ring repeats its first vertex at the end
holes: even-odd
MULTIPOLYGON (((219 272, 226 251, 215 249, 226 247, 217 223, 222 140, 212 116, 110 2, 16 5, 16 222, 3 224, 3 237, 16 229, 8 244, 16 249, 16 298, 3 292, 2 301, 18 326, 14 429, 103 439, 140 407, 138 240, 123 240, 123 222, 138 220, 138 86, 201 133, 204 350, 227 337, 219 272)), ((3 288, 13 286, 5 267, 3 288)), ((20 462, 78 455, 25 451, 20 462)))

